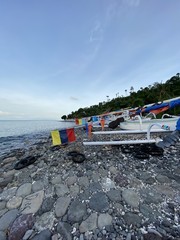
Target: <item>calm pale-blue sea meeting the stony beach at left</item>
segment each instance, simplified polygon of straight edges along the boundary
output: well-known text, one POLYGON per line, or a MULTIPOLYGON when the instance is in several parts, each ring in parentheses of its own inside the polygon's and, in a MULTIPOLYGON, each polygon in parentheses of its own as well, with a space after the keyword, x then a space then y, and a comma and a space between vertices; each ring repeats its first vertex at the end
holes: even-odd
POLYGON ((29 147, 50 136, 51 130, 74 127, 74 122, 0 120, 0 156, 29 147))

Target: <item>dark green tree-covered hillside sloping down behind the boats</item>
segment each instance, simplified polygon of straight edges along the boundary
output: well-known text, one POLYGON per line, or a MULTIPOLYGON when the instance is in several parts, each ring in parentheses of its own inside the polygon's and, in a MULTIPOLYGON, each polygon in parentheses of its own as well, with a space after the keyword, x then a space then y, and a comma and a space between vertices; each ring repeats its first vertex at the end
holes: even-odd
MULTIPOLYGON (((125 92, 127 93, 127 90, 125 92)), ((150 103, 161 102, 178 96, 180 96, 180 73, 177 73, 165 83, 155 82, 153 85, 140 88, 137 92, 134 91, 134 87, 131 87, 129 96, 116 97, 110 101, 90 106, 89 108, 79 108, 77 111, 67 115, 67 118, 82 118, 124 108, 142 107, 150 103)), ((180 108, 175 107, 168 110, 167 113, 178 115, 180 114, 180 108)))

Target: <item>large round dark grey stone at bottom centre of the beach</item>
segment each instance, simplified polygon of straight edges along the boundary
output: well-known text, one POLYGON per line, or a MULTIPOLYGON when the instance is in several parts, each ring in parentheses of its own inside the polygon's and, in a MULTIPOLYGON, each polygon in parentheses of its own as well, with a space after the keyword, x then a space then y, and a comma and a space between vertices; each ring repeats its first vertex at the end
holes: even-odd
POLYGON ((97 212, 106 212, 109 209, 108 198, 105 193, 95 193, 89 201, 89 207, 97 212))

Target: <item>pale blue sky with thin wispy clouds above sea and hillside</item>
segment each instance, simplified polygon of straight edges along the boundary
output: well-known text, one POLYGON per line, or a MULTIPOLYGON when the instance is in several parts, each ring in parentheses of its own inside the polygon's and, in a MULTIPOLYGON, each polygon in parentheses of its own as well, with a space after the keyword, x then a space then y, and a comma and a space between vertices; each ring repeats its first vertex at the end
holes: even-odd
POLYGON ((0 0, 0 119, 60 119, 180 72, 179 0, 0 0))

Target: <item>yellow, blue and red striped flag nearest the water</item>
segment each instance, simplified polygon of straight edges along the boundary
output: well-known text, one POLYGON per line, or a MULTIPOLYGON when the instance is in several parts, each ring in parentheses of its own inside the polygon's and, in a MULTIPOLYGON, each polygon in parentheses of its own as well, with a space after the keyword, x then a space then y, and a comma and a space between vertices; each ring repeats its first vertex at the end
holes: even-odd
POLYGON ((63 129, 63 130, 53 130, 51 131, 52 144, 60 145, 76 140, 74 128, 63 129))

